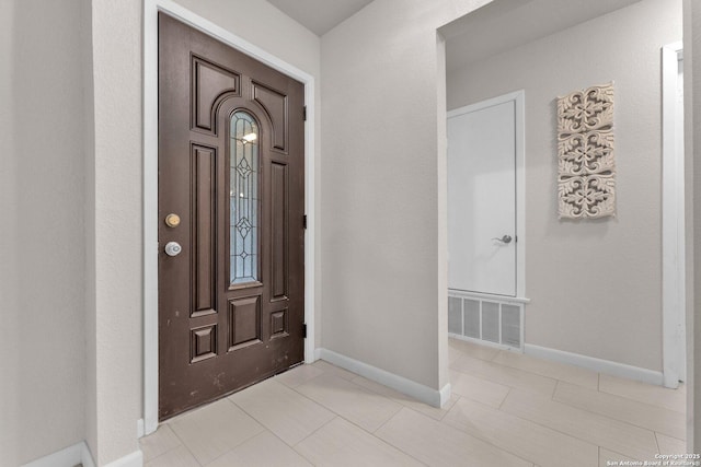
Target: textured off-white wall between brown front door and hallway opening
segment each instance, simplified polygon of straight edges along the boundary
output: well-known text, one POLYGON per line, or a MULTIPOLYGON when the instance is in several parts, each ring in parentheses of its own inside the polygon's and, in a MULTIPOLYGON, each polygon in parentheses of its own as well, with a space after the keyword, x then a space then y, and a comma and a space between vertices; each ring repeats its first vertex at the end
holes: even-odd
POLYGON ((436 389, 448 383, 436 28, 483 3, 376 0, 321 44, 322 346, 436 389))

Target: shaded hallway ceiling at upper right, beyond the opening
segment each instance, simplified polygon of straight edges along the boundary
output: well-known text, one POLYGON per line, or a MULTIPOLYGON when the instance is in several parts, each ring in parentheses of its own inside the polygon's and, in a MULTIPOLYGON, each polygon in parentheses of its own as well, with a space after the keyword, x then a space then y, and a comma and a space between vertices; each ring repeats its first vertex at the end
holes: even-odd
POLYGON ((494 0, 440 28, 446 69, 504 52, 640 0, 494 0))

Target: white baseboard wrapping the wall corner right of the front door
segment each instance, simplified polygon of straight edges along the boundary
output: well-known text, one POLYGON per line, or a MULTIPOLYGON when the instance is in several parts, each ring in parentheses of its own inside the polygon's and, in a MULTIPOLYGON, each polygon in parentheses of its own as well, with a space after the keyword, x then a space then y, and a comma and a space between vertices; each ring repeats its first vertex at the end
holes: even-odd
POLYGON ((329 349, 317 349, 319 358, 336 366, 348 370, 349 372, 359 374, 368 380, 379 383, 383 386, 391 387, 402 394, 413 397, 424 404, 434 407, 441 407, 450 399, 450 384, 446 384, 440 390, 433 389, 423 384, 399 376, 394 373, 378 369, 349 357, 336 353, 329 349))

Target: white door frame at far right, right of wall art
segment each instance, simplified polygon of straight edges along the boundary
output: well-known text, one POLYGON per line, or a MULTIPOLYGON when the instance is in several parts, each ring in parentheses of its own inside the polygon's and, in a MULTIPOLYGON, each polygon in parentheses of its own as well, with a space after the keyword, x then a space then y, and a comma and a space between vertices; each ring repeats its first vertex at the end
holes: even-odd
POLYGON ((686 378, 685 160, 679 157, 675 135, 682 47, 675 43, 662 48, 662 353, 663 384, 671 388, 686 378))

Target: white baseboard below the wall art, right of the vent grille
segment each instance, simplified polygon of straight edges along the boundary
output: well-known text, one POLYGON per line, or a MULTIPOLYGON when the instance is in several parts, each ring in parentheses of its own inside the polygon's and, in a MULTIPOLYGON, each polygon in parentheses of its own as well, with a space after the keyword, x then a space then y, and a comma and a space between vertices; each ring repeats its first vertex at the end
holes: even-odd
POLYGON ((582 355, 579 353, 571 353, 562 350, 549 349, 527 343, 524 346, 527 355, 537 357, 553 362, 567 363, 570 365, 582 366, 598 373, 611 376, 635 380, 642 383, 655 384, 662 386, 663 374, 653 370, 641 369, 639 366, 617 363, 610 360, 595 359, 594 357, 582 355))

